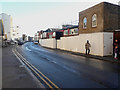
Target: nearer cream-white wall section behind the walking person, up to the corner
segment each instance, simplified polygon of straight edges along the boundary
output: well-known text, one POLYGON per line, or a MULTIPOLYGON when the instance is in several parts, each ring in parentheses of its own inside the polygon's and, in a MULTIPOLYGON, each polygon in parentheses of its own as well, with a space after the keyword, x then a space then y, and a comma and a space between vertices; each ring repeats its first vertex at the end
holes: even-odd
POLYGON ((58 41, 57 47, 63 50, 85 53, 85 43, 87 40, 91 44, 90 54, 103 56, 103 32, 62 37, 58 41))

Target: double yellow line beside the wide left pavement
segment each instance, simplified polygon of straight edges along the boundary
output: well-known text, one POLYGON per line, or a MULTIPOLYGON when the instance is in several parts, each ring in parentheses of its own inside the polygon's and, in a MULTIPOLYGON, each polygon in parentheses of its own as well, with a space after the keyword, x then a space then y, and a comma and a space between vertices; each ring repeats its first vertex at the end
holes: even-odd
POLYGON ((12 49, 14 55, 21 60, 24 64, 28 66, 49 88, 54 88, 60 90, 60 88, 55 85, 48 77, 46 77, 42 72, 40 72, 35 66, 28 62, 17 50, 16 48, 12 49))

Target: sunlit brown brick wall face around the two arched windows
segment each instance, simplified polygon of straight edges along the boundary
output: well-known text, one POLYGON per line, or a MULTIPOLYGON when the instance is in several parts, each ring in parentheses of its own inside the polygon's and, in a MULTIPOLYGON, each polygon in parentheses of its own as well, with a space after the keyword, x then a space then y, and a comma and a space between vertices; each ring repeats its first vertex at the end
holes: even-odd
POLYGON ((79 13, 79 33, 101 32, 103 30, 103 6, 104 3, 97 4, 79 13), (97 27, 92 27, 92 16, 97 15, 97 27), (83 18, 87 17, 87 28, 83 29, 83 18))

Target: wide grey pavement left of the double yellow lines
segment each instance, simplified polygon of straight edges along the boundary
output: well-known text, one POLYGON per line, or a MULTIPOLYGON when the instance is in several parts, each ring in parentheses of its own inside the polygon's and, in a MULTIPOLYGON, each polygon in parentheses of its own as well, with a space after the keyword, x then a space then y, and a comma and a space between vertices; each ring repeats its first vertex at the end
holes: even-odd
POLYGON ((15 57, 12 47, 2 49, 2 88, 44 88, 15 57))

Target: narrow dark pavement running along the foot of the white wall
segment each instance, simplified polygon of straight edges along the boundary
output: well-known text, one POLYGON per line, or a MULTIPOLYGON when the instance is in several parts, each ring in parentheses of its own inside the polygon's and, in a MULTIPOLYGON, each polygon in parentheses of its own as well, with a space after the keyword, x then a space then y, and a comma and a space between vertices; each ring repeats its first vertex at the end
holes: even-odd
MULTIPOLYGON (((42 46, 42 47, 44 47, 44 46, 42 46)), ((69 53, 69 54, 74 54, 74 55, 79 55, 79 56, 84 56, 84 57, 88 57, 88 58, 104 60, 104 61, 120 64, 120 59, 114 59, 112 55, 111 56, 95 56, 95 55, 86 55, 84 53, 66 51, 66 50, 61 50, 61 49, 53 49, 53 48, 49 48, 49 47, 44 47, 44 48, 56 50, 58 52, 60 51, 60 52, 64 52, 64 53, 69 53)))

